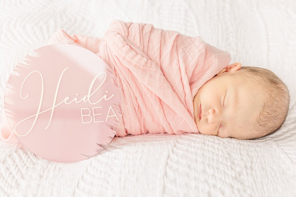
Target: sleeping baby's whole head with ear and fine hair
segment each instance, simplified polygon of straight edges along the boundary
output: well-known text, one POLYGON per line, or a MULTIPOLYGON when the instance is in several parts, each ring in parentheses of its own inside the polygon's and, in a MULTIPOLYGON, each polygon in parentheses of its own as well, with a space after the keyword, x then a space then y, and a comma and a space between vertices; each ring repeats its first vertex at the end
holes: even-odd
POLYGON ((194 121, 205 135, 256 139, 281 128, 289 103, 289 89, 276 74, 236 62, 200 87, 194 121))

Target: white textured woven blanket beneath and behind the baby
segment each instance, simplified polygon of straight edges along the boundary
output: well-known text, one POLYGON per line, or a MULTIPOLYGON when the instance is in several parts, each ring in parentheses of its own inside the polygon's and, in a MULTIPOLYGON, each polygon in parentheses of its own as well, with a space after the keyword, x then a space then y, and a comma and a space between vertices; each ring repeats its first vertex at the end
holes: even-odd
POLYGON ((0 196, 296 196, 293 0, 1 0, 0 111, 13 68, 57 28, 101 38, 114 19, 201 36, 231 53, 231 64, 274 71, 291 93, 286 123, 258 140, 194 133, 115 137, 96 156, 72 164, 0 141, 0 196))

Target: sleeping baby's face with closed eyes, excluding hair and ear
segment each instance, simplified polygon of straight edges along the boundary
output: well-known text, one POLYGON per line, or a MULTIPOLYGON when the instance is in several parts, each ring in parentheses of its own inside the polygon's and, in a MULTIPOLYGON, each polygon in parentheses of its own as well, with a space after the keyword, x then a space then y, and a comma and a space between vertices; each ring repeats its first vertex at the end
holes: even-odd
POLYGON ((246 86, 247 81, 228 75, 221 73, 200 87, 193 99, 194 121, 205 135, 254 138, 252 127, 263 108, 263 94, 246 86))

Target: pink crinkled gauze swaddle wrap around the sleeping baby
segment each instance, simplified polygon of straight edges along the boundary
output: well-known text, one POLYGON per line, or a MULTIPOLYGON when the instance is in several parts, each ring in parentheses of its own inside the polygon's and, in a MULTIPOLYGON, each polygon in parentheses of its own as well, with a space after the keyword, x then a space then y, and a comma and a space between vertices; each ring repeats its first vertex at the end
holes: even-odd
MULTIPOLYGON (((193 98, 198 89, 231 61, 229 53, 179 32, 151 24, 111 22, 103 38, 68 35, 59 29, 49 44, 81 45, 115 73, 123 95, 116 136, 144 133, 199 133, 193 98)), ((15 141, 3 112, 1 138, 15 141)))

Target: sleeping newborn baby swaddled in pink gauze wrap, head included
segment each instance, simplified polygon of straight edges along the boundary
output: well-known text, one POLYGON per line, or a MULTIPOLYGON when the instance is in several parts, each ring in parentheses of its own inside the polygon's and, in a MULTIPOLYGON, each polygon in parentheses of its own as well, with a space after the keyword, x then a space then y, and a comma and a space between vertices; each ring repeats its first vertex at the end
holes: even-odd
MULTIPOLYGON (((115 74, 123 97, 115 136, 201 133, 237 139, 266 136, 289 109, 286 85, 268 69, 230 64, 226 51, 199 36, 151 24, 110 23, 103 38, 57 30, 48 45, 82 46, 115 74), (193 102, 192 102, 193 101, 193 102)), ((1 136, 8 139, 7 123, 1 136)))

